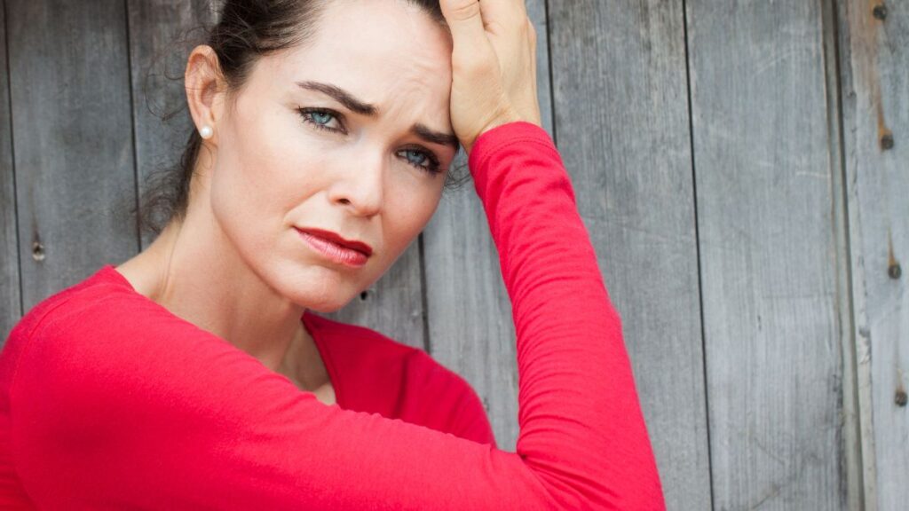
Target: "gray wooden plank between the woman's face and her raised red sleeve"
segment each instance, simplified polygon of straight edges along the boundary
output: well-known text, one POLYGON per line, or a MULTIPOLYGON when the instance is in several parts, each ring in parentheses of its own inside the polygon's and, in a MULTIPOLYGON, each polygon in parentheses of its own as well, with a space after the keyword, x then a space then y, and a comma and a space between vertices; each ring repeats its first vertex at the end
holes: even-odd
MULTIPOLYGON (((537 34, 540 109, 552 134, 545 4, 528 0, 526 5, 537 34)), ((458 156, 454 165, 466 173, 464 156, 458 156)), ((496 444, 514 450, 517 358, 511 302, 472 181, 445 191, 423 239, 430 353, 474 387, 484 402, 496 444)))

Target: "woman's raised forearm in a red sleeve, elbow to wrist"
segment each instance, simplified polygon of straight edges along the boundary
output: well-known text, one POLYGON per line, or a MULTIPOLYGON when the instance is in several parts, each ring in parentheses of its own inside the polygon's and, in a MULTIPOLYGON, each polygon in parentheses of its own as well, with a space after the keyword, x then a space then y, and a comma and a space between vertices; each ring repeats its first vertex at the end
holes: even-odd
POLYGON ((663 509, 621 319, 552 139, 499 126, 470 166, 512 299, 517 454, 563 506, 663 509))

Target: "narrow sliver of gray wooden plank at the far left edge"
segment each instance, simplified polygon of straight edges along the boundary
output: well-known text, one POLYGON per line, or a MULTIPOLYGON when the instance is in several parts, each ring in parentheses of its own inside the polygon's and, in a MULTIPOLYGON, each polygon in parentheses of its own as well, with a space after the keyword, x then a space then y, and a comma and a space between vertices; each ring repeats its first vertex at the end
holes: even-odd
POLYGON ((19 296, 18 236, 15 230, 13 132, 9 118, 6 20, 0 5, 0 348, 22 316, 19 296))

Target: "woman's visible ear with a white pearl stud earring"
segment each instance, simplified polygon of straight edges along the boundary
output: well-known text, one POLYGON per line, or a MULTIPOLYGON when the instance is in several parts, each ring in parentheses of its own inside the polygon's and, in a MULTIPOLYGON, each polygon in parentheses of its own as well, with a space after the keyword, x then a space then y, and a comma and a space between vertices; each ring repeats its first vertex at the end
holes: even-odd
POLYGON ((193 117, 195 129, 204 125, 212 127, 214 134, 205 140, 205 144, 217 145, 217 122, 223 112, 224 77, 218 65, 215 50, 209 45, 198 45, 186 60, 184 74, 186 103, 193 117))

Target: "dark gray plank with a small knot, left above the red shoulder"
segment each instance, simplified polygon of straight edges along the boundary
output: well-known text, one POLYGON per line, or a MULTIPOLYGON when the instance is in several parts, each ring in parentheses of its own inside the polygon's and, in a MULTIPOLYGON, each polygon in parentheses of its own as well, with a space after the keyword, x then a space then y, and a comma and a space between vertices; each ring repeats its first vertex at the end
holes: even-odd
POLYGON ((122 2, 6 2, 23 307, 137 249, 122 2))

